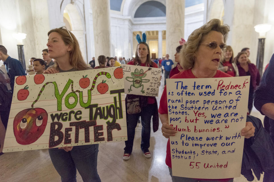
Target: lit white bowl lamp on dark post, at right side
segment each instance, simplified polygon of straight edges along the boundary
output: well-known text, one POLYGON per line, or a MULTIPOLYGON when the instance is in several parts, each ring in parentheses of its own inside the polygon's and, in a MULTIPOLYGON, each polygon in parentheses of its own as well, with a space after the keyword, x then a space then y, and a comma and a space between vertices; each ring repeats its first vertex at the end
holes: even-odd
POLYGON ((257 66, 257 69, 259 70, 259 73, 261 76, 262 76, 262 71, 263 71, 265 36, 266 36, 266 32, 268 32, 271 29, 271 26, 272 26, 271 24, 258 24, 258 25, 254 26, 255 31, 259 33, 256 66, 257 66))

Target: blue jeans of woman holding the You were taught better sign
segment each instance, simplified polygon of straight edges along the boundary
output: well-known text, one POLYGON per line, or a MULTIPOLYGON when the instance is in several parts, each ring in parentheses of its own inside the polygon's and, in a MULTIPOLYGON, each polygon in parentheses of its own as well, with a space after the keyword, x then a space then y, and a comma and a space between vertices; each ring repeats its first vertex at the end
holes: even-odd
POLYGON ((74 146, 71 151, 49 148, 49 155, 62 182, 76 182, 76 168, 84 182, 101 182, 97 173, 99 144, 74 146))

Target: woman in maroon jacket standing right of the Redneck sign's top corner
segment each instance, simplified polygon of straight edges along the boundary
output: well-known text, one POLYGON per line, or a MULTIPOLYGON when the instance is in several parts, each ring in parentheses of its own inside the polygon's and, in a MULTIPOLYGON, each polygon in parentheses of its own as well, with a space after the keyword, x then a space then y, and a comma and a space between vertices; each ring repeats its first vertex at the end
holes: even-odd
POLYGON ((253 107, 253 93, 257 86, 260 84, 260 73, 257 67, 250 62, 247 57, 246 52, 239 52, 236 57, 236 63, 239 69, 239 76, 249 76, 250 75, 250 86, 249 86, 249 96, 248 96, 248 113, 250 114, 253 107))

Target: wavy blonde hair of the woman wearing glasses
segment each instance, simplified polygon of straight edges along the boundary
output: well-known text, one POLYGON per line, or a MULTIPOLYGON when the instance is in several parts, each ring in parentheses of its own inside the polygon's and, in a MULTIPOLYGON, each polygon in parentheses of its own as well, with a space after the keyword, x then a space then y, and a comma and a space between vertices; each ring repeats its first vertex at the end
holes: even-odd
POLYGON ((180 51, 180 65, 183 69, 187 70, 194 67, 195 53, 198 51, 205 35, 211 31, 221 32, 221 34, 223 34, 223 40, 226 42, 229 30, 229 26, 221 25, 221 21, 219 19, 212 19, 200 28, 194 30, 188 37, 186 46, 183 46, 183 51, 180 51))

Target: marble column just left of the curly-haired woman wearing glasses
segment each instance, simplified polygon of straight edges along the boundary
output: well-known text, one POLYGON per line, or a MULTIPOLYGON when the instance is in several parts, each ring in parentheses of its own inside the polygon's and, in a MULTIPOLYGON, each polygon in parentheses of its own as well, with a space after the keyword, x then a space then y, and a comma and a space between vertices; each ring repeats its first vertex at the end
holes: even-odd
POLYGON ((166 0, 166 54, 174 62, 174 54, 184 38, 185 0, 166 0))

